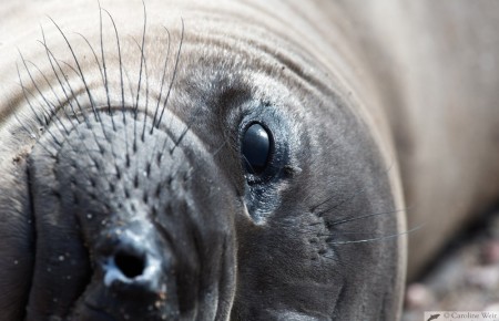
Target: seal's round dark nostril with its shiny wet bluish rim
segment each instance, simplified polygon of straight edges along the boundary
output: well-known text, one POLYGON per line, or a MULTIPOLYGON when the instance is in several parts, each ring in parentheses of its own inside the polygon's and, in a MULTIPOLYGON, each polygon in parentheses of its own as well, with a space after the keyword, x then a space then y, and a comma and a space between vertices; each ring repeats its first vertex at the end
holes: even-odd
POLYGON ((96 282, 104 292, 123 300, 152 299, 174 291, 175 259, 154 227, 140 218, 130 226, 112 225, 94 248, 96 282))

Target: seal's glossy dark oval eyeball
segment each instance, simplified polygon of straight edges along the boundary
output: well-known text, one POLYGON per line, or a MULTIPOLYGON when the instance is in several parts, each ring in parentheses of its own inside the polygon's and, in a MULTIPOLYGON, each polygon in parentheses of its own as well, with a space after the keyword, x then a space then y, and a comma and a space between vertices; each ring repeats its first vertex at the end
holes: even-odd
POLYGON ((262 174, 271 158, 271 133, 258 123, 246 128, 243 135, 242 152, 246 170, 251 174, 262 174))

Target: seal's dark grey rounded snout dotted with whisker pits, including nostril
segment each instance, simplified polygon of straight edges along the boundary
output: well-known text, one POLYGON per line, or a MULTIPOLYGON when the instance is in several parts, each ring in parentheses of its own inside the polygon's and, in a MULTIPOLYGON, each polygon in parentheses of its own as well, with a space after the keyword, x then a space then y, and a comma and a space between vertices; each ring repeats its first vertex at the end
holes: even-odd
MULTIPOLYGON (((145 121, 112 117, 100 114, 98 124, 74 124, 57 162, 45 157, 44 145, 37 149, 40 155, 32 154, 37 200, 53 205, 42 206, 37 217, 57 213, 78 241, 70 247, 59 234, 53 241, 38 241, 58 246, 44 251, 48 259, 64 255, 58 266, 45 263, 50 275, 40 280, 50 282, 41 284, 53 284, 58 293, 72 281, 75 290, 60 311, 51 307, 62 307, 62 299, 40 294, 28 320, 45 320, 39 318, 45 311, 81 321, 226 320, 231 306, 225 303, 235 296, 238 205, 231 180, 205 143, 175 116, 167 131, 144 132, 143 141, 135 133, 145 121), (105 139, 98 141, 101 134, 105 139), (47 200, 48 189, 53 201, 47 200), (72 261, 65 253, 81 258, 86 269, 68 268, 72 261), (62 272, 51 272, 55 268, 62 272)), ((35 294, 45 292, 38 283, 37 289, 35 294)))

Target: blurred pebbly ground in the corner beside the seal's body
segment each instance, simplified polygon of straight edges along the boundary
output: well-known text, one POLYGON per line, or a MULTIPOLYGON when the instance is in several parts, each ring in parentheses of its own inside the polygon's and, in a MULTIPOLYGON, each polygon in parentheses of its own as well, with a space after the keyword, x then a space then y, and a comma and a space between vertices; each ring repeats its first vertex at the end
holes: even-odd
POLYGON ((461 235, 408 286, 403 321, 424 311, 499 311, 499 211, 461 235))

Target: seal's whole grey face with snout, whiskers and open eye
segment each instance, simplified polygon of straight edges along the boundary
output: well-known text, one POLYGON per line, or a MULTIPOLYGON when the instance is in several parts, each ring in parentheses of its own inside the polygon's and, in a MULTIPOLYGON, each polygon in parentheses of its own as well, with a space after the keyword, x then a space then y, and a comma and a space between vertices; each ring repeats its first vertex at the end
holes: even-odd
POLYGON ((111 32, 102 55, 85 44, 100 34, 60 37, 24 65, 10 131, 33 148, 2 194, 32 220, 34 260, 1 277, 32 275, 9 313, 389 319, 396 208, 355 104, 307 49, 269 51, 293 48, 282 35, 189 22, 111 32))

